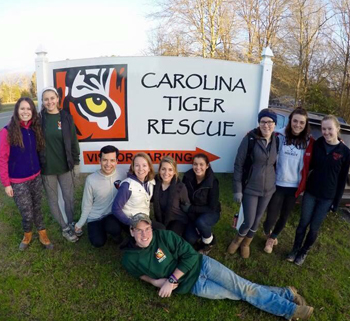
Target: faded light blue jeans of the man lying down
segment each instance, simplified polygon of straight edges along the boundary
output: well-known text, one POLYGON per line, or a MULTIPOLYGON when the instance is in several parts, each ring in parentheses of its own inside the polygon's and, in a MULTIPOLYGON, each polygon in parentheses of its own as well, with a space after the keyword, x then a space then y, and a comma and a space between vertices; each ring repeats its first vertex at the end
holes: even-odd
POLYGON ((205 255, 191 293, 208 299, 244 300, 258 309, 286 319, 293 316, 297 307, 290 289, 252 283, 205 255))

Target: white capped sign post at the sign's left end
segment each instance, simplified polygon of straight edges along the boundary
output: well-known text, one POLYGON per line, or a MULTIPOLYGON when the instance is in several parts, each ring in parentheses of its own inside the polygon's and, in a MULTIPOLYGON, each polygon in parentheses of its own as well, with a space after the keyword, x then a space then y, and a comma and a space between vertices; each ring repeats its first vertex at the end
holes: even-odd
POLYGON ((39 45, 35 51, 37 57, 35 58, 35 72, 36 72, 36 92, 38 96, 38 110, 41 109, 41 90, 48 86, 47 69, 49 59, 46 56, 47 51, 43 45, 39 45))

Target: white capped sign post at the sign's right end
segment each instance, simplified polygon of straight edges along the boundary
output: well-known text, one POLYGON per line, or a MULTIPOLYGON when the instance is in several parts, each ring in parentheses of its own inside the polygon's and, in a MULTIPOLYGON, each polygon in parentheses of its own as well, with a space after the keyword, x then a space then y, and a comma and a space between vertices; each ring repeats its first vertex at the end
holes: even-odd
POLYGON ((261 56, 262 56, 262 60, 260 62, 260 65, 262 66, 261 91, 260 91, 260 101, 259 101, 258 112, 269 106, 272 66, 273 66, 273 61, 271 60, 271 57, 273 57, 273 52, 269 47, 266 47, 261 53, 261 56))

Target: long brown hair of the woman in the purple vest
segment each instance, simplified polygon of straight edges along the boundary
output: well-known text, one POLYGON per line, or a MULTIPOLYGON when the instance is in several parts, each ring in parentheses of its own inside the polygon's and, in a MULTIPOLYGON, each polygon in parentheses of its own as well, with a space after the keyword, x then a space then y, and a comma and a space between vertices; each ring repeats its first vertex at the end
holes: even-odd
POLYGON ((15 109, 13 111, 13 115, 11 117, 11 121, 7 126, 7 132, 8 132, 7 140, 11 146, 19 146, 21 148, 24 148, 21 125, 20 125, 21 121, 18 115, 19 106, 22 101, 26 101, 29 104, 32 112, 32 119, 31 119, 32 123, 30 127, 35 133, 36 149, 38 151, 43 150, 45 147, 45 140, 44 140, 43 132, 41 130, 40 118, 39 118, 38 112, 36 111, 33 100, 31 100, 29 97, 22 97, 17 100, 15 109))

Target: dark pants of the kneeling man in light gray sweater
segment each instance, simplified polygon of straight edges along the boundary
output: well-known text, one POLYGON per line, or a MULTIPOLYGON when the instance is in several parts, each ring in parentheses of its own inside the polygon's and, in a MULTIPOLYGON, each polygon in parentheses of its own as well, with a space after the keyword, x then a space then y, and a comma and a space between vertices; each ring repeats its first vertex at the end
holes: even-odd
POLYGON ((90 243, 95 247, 101 247, 106 244, 107 235, 118 237, 121 234, 121 226, 118 219, 109 214, 103 219, 88 223, 88 234, 90 243))

